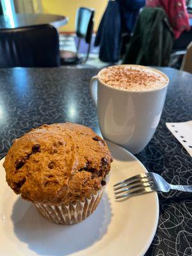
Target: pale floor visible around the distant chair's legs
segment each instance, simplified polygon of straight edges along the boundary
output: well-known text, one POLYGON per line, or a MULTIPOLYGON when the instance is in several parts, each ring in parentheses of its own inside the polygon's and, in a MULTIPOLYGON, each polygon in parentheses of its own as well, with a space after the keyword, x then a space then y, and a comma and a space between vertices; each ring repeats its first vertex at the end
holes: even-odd
MULTIPOLYGON (((90 50, 90 56, 86 61, 85 65, 76 65, 78 68, 103 68, 109 66, 109 63, 104 63, 99 60, 99 47, 94 47, 95 35, 92 36, 92 45, 90 50)), ((60 49, 66 51, 74 51, 76 52, 76 44, 77 44, 77 37, 76 35, 60 35, 60 49)), ((88 44, 81 41, 81 45, 79 48, 79 56, 84 57, 86 56, 86 52, 88 49, 88 44)), ((73 65, 74 67, 74 65, 73 65)))

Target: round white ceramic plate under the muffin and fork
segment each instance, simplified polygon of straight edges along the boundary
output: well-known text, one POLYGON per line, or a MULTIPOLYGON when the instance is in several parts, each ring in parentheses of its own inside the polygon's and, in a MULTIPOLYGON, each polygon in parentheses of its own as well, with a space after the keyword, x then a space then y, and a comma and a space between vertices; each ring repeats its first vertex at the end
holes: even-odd
POLYGON ((157 228, 157 193, 116 202, 113 184, 147 172, 127 150, 108 143, 114 157, 111 177, 99 207, 82 223, 56 225, 13 193, 0 161, 0 255, 144 255, 157 228))

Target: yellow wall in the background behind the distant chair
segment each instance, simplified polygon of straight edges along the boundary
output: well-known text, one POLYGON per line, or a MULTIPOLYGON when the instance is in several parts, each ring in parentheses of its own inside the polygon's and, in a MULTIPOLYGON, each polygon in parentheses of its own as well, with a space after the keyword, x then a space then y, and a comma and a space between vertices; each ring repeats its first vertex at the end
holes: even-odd
POLYGON ((104 12, 108 0, 42 0, 42 10, 44 13, 64 15, 68 17, 68 24, 60 28, 60 31, 75 31, 75 17, 77 8, 83 6, 95 9, 94 31, 99 26, 102 13, 104 12))

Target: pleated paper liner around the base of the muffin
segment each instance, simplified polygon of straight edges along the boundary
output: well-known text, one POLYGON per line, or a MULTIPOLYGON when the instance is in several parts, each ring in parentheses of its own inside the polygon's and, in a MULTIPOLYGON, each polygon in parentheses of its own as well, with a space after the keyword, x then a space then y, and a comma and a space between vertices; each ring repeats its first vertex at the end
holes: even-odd
POLYGON ((76 204, 68 205, 45 205, 35 204, 38 212, 47 220, 63 225, 71 225, 83 221, 95 211, 100 202, 104 188, 94 193, 90 198, 84 198, 84 202, 80 200, 76 204))

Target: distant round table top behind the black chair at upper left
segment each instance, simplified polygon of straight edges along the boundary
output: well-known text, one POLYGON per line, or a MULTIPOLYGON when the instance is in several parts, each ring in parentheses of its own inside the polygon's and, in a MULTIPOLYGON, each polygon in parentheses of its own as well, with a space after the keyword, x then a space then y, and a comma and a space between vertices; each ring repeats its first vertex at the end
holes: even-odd
POLYGON ((44 13, 13 13, 13 15, 0 15, 0 29, 13 29, 42 24, 51 24, 59 28, 67 24, 68 18, 61 15, 44 13))

